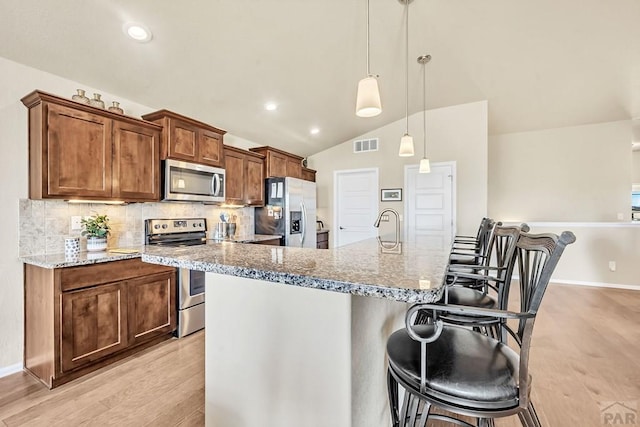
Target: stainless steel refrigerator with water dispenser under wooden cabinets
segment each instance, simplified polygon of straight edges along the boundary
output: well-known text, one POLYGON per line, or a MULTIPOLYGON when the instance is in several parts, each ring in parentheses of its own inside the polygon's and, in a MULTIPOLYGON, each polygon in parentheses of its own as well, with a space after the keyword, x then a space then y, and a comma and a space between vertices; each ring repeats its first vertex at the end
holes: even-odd
POLYGON ((256 234, 279 234, 285 246, 316 247, 316 183, 267 178, 265 206, 255 210, 256 234))

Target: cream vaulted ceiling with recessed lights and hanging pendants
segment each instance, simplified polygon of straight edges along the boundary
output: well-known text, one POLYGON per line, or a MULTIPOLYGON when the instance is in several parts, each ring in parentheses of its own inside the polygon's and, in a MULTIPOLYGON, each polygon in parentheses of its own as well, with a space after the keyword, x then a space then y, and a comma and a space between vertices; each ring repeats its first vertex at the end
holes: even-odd
MULTIPOLYGON (((404 5, 370 16, 374 118, 354 114, 366 0, 0 0, 0 56, 310 155, 404 117, 404 5)), ((414 0, 410 113, 428 53, 427 108, 487 99, 492 134, 640 117, 639 22, 638 0, 414 0)))

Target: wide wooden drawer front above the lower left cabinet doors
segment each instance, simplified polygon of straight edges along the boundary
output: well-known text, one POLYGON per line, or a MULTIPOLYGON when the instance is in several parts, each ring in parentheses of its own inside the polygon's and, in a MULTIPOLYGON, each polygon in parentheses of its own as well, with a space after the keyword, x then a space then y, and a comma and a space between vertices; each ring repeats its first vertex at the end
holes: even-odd
POLYGON ((65 292, 174 270, 173 267, 142 262, 139 258, 68 267, 60 269, 60 287, 65 292))

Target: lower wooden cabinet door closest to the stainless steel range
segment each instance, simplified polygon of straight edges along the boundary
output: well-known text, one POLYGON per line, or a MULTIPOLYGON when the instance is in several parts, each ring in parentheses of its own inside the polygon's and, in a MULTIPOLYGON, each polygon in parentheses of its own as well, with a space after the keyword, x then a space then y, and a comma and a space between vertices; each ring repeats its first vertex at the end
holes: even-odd
POLYGON ((175 273, 160 273, 127 282, 129 344, 135 345, 176 329, 175 273))

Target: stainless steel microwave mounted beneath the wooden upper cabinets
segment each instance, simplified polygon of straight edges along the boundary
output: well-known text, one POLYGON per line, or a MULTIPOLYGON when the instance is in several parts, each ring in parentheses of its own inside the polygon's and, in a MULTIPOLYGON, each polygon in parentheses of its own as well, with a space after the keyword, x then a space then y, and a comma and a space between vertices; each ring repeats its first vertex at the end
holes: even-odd
POLYGON ((164 200, 224 202, 224 169, 172 159, 164 162, 164 200))

